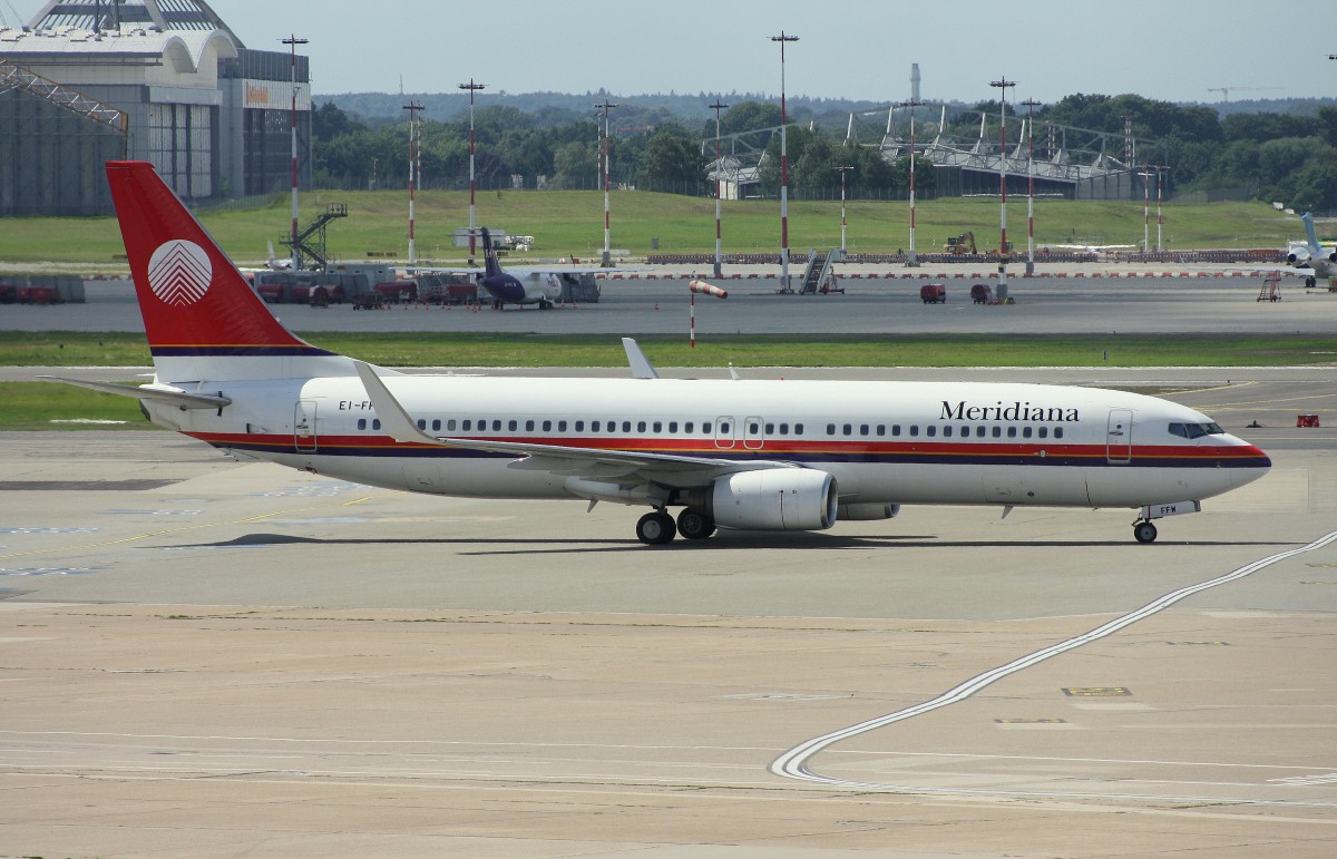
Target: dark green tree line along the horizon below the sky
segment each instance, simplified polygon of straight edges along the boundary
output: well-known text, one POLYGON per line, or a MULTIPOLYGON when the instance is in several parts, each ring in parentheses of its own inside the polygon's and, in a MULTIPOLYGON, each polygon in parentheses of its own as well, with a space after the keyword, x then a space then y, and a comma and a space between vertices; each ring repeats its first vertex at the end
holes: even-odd
MULTIPOLYGON (((707 96, 698 99, 705 102, 707 96)), ((402 99, 400 99, 402 100, 402 99)), ((796 198, 836 198, 841 177, 852 199, 904 197, 909 187, 909 159, 894 163, 876 149, 845 142, 849 111, 820 102, 792 106, 786 131, 789 189, 796 198), (849 167, 841 171, 840 167, 849 167)), ((1310 106, 1314 107, 1314 106, 1310 106)), ((1027 108, 1005 107, 1009 131, 1020 127, 1027 108)), ((997 102, 953 104, 947 131, 997 135, 997 102)), ((916 120, 919 140, 939 131, 937 116, 916 120)), ((1337 209, 1337 107, 1317 106, 1309 112, 1234 112, 1222 118, 1210 106, 1182 106, 1138 95, 1076 94, 1040 106, 1034 114, 1036 134, 1044 123, 1122 135, 1126 127, 1161 149, 1151 158, 1165 166, 1171 193, 1243 189, 1250 197, 1278 201, 1298 210, 1326 213, 1337 209)), ((603 187, 600 123, 571 110, 523 111, 505 104, 475 110, 475 175, 477 187, 571 189, 603 187)), ((779 189, 779 106, 745 99, 719 115, 723 136, 753 132, 750 145, 763 149, 761 193, 779 189)), ((905 134, 905 128, 898 128, 905 134)), ((612 119, 611 182, 690 195, 710 195, 714 185, 707 167, 714 161, 715 116, 671 114, 662 103, 636 106, 624 100, 612 119)), ((406 122, 365 118, 333 100, 313 114, 314 178, 328 187, 405 187, 409 135, 406 122)), ((725 153, 729 153, 726 145, 725 153)), ((421 182, 429 189, 467 189, 469 174, 469 118, 459 111, 448 120, 425 120, 421 136, 421 182)), ((916 191, 935 191, 933 166, 915 165, 916 191)))

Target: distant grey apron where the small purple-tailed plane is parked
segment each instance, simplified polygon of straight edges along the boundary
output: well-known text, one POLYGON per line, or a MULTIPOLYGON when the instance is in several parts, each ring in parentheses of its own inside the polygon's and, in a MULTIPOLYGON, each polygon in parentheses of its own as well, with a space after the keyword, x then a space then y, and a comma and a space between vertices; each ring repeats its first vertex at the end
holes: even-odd
MULTIPOLYGON (((775 294, 775 278, 725 280, 727 300, 697 301, 697 336, 713 333, 1326 333, 1337 320, 1337 294, 1304 289, 1286 278, 1282 300, 1257 300, 1258 277, 1054 277, 1009 284, 1013 305, 971 301, 975 282, 992 282, 979 266, 933 272, 948 288, 947 304, 919 300, 923 280, 845 280, 844 294, 775 294)), ((1161 269, 1158 269, 1161 270, 1161 269)), ((1094 272, 1091 272, 1094 273, 1094 272)), ((885 272, 884 272, 885 274, 885 272)), ((1090 274, 1090 273, 1087 273, 1090 274)), ((598 304, 555 310, 508 308, 504 312, 417 305, 389 310, 353 310, 349 305, 310 308, 274 305, 297 332, 322 330, 483 330, 596 333, 610 336, 682 333, 689 328, 687 278, 603 281, 598 304)), ((8 330, 143 330, 128 284, 90 281, 87 304, 9 305, 8 330)), ((796 356, 798 363, 798 356, 796 356)))

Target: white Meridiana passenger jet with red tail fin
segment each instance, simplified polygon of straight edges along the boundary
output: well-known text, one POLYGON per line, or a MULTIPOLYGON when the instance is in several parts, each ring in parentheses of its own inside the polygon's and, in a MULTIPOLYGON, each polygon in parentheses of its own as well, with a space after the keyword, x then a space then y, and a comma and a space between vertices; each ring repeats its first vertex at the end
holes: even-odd
POLYGON ((242 458, 413 492, 648 507, 636 537, 651 545, 909 503, 1138 508, 1134 537, 1151 542, 1152 519, 1271 466, 1201 412, 1119 391, 673 380, 634 347, 631 379, 401 375, 283 328, 152 165, 107 177, 155 375, 76 384, 242 458))

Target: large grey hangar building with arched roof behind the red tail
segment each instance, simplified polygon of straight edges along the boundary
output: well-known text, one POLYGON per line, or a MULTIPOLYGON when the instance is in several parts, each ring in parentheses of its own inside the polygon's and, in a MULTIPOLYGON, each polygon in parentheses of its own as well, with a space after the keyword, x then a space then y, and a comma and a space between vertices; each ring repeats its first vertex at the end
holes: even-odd
POLYGON ((187 201, 285 190, 294 78, 305 182, 306 56, 247 48, 203 0, 51 0, 0 25, 0 215, 108 214, 119 158, 187 201))

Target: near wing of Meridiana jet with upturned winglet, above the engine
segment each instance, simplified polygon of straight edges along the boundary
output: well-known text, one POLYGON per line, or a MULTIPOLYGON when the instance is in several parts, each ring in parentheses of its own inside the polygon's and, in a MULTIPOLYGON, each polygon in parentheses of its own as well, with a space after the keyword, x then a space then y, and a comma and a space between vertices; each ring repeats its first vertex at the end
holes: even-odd
POLYGON ((718 456, 683 454, 654 454, 650 451, 610 451, 602 448, 571 447, 566 444, 536 444, 531 442, 493 442, 487 439, 437 438, 418 430, 385 383, 365 361, 354 361, 357 375, 368 397, 381 419, 381 427, 396 442, 459 447, 493 454, 513 454, 519 462, 513 468, 551 471, 560 475, 610 479, 638 478, 644 482, 691 486, 706 483, 721 474, 761 471, 769 468, 797 468, 779 460, 734 462, 718 456))

